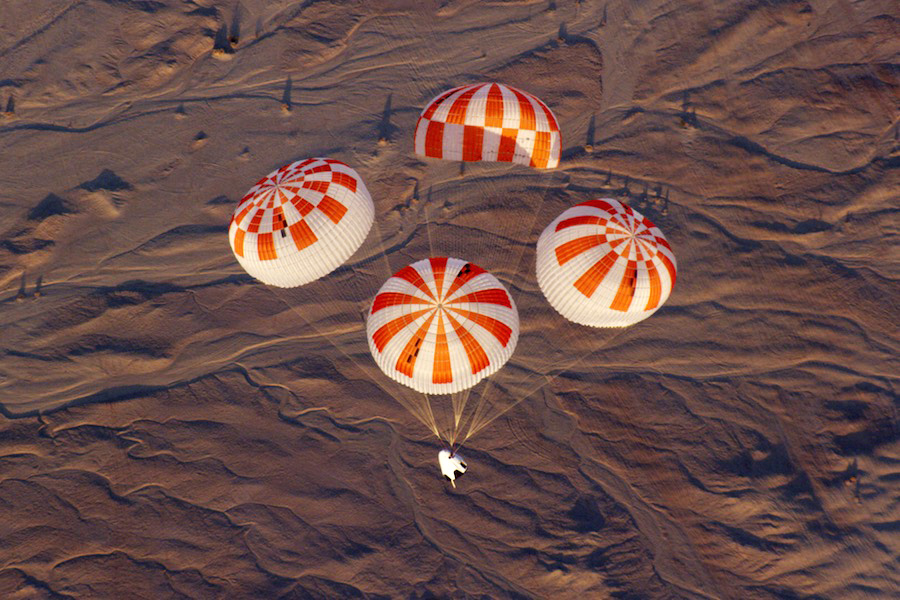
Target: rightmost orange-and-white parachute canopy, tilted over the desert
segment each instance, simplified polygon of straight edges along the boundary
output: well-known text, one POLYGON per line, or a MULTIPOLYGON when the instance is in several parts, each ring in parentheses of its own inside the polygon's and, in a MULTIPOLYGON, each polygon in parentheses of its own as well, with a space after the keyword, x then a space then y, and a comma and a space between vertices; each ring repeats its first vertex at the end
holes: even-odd
POLYGON ((562 316, 591 327, 646 319, 675 285, 675 255, 646 217, 612 198, 565 210, 541 233, 537 280, 562 316))

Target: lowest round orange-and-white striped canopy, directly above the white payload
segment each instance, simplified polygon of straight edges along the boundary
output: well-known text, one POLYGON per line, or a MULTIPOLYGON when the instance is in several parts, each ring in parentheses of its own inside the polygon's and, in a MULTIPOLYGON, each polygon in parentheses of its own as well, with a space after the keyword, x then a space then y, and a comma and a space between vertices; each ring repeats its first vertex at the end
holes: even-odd
POLYGON ((425 394, 451 394, 509 359, 519 339, 519 313, 506 288, 481 267, 428 258, 381 286, 366 334, 388 377, 425 394))

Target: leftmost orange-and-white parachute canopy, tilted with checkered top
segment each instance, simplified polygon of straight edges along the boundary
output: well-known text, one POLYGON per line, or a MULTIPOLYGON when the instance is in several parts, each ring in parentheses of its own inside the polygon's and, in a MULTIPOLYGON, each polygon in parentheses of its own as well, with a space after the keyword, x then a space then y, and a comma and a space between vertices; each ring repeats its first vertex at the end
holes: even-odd
POLYGON ((295 287, 350 258, 374 219, 372 197, 356 171, 331 158, 310 158, 250 188, 234 210, 228 240, 250 275, 295 287))

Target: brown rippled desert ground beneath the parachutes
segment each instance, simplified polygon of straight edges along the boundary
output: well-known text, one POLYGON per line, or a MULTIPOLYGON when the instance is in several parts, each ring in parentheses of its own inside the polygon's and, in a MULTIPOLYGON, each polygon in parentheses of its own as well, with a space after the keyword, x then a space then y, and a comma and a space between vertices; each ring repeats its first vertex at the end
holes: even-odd
POLYGON ((0 597, 896 598, 898 56, 890 0, 5 0, 0 597), (413 155, 482 80, 559 169, 413 155), (376 227, 269 288, 228 220, 311 156, 376 227), (600 196, 679 261, 622 331, 534 277, 600 196), (431 253, 522 318, 456 490, 364 338, 431 253))

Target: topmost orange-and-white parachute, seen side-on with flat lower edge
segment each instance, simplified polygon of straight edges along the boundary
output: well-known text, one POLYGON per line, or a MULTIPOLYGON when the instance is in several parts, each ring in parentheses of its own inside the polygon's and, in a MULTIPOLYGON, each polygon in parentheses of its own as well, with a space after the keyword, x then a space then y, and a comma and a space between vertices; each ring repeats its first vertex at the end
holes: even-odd
POLYGON ((464 85, 428 103, 416 123, 416 154, 552 169, 562 141, 537 97, 500 83, 464 85))

